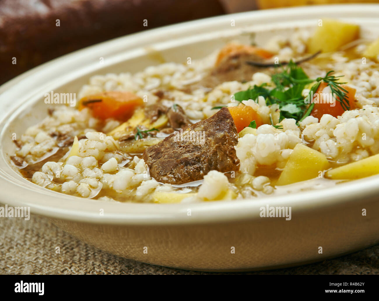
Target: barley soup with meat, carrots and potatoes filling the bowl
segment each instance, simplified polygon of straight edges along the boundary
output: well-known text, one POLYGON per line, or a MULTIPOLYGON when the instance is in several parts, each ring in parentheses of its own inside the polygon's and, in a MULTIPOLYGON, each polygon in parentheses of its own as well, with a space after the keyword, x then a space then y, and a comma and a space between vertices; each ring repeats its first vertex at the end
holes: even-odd
POLYGON ((121 202, 254 200, 374 175, 378 54, 358 26, 325 21, 190 64, 93 76, 76 106, 45 100, 11 159, 46 189, 121 202))

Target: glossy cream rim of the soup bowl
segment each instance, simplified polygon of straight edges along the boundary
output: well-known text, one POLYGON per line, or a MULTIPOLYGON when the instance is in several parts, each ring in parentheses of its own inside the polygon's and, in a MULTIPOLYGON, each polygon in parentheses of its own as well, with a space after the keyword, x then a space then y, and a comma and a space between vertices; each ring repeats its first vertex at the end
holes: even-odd
MULTIPOLYGON (((156 45, 157 49, 169 48, 177 45, 175 43, 180 43, 183 36, 186 36, 186 39, 191 42, 197 41, 196 39, 199 37, 209 39, 215 32, 220 37, 224 34, 231 34, 230 29, 225 29, 225 23, 230 23, 230 19, 235 19, 236 22, 241 23, 254 20, 257 23, 255 28, 275 26, 278 19, 281 19, 279 23, 290 24, 289 22, 295 19, 293 25, 289 27, 293 28, 296 24, 317 20, 315 16, 321 15, 338 19, 349 18, 351 20, 353 18, 351 22, 354 22, 354 16, 361 21, 371 18, 370 22, 373 22, 378 12, 379 4, 317 5, 242 12, 146 30, 74 51, 35 67, 0 86, 0 139, 3 139, 10 120, 16 118, 27 104, 36 99, 38 91, 51 86, 53 83, 60 85, 68 83, 96 70, 99 70, 100 73, 101 68, 94 66, 93 60, 91 61, 92 55, 98 51, 104 52, 105 49, 110 57, 105 66, 111 66, 123 61, 125 55, 132 58, 143 54, 143 47, 146 45, 156 45), (301 19, 296 20, 296 17, 301 19), (57 70, 60 70, 60 75, 52 76, 51 74, 55 74, 54 71, 57 70), (22 91, 27 93, 20 95, 22 91), (16 100, 9 103, 7 99, 16 100)), ((379 21, 376 22, 379 24, 379 21)), ((239 28, 239 32, 242 32, 243 29, 246 27, 239 28)), ((232 35, 236 33, 238 32, 234 30, 232 35)), ((260 207, 266 207, 267 204, 269 206, 291 206, 292 212, 306 212, 317 208, 346 205, 357 201, 358 194, 363 199, 375 197, 379 193, 377 186, 379 176, 372 176, 338 184, 331 188, 291 193, 282 197, 268 196, 238 201, 179 204, 107 203, 64 195, 39 187, 22 178, 13 170, 9 166, 6 156, 6 151, 1 148, 1 203, 8 206, 30 206, 32 214, 86 223, 177 225, 257 220, 260 218, 260 207), (103 209, 103 215, 99 213, 101 209, 103 209), (189 209, 191 215, 188 215, 189 209)))

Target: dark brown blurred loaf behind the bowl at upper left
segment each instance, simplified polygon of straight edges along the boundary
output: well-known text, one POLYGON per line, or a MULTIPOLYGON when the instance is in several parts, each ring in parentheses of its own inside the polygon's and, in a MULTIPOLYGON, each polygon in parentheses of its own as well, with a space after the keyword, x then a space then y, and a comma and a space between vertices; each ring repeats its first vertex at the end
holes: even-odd
POLYGON ((98 42, 222 13, 218 0, 2 0, 0 84, 98 42), (148 20, 147 27, 143 26, 144 19, 148 20))

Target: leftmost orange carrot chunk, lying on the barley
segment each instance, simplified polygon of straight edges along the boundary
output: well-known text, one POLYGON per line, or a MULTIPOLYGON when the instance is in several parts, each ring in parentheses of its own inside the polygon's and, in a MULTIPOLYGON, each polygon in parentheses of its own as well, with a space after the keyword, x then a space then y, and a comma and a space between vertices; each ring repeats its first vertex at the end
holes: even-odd
POLYGON ((142 98, 130 92, 109 91, 89 95, 80 100, 79 110, 89 108, 94 117, 128 120, 138 106, 144 104, 142 98))

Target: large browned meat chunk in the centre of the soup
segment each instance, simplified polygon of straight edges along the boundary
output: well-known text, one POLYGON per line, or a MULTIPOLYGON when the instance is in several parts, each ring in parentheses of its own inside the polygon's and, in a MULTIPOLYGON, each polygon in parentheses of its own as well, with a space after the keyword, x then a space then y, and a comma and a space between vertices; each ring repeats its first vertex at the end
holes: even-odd
POLYGON ((239 160, 234 149, 237 142, 232 115, 227 108, 222 108, 212 117, 147 148, 143 159, 150 168, 150 176, 158 182, 184 184, 201 180, 211 170, 238 170, 239 160))

